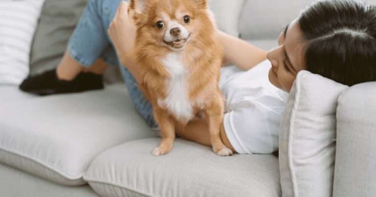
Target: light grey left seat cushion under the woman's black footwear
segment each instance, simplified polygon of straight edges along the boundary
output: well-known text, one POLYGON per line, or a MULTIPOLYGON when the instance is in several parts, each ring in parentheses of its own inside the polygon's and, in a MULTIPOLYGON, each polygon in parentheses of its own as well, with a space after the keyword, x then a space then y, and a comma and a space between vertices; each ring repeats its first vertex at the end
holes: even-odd
POLYGON ((83 184, 86 168, 107 148, 156 136, 123 85, 0 108, 0 162, 65 185, 83 184))

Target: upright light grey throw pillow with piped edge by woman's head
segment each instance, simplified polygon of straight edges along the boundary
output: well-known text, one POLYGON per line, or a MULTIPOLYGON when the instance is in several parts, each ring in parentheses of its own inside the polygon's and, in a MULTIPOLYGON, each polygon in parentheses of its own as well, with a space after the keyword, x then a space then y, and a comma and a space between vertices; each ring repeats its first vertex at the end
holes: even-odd
POLYGON ((298 74, 282 116, 282 197, 331 197, 337 100, 348 86, 318 74, 298 74))

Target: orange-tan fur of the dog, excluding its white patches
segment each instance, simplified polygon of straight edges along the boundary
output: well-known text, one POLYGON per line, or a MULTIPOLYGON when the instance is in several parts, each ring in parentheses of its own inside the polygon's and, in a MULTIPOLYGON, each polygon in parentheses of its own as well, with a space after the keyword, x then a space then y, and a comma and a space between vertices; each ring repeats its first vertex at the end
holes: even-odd
MULTIPOLYGON (((130 9, 137 9, 137 3, 138 0, 131 0, 130 9)), ((176 19, 177 12, 188 13, 191 17, 189 24, 181 24, 191 32, 190 41, 183 50, 182 61, 188 71, 186 84, 193 107, 192 117, 198 112, 205 114, 213 150, 219 153, 226 148, 220 138, 223 98, 218 87, 223 50, 216 40, 207 0, 146 0, 143 11, 134 16, 137 26, 134 54, 142 73, 140 88, 152 103, 155 120, 161 129, 159 154, 166 154, 172 149, 175 128, 184 128, 188 122, 177 118, 157 102, 168 94, 166 81, 171 75, 164 67, 162 58, 172 50, 163 45, 164 31, 155 24, 162 13, 167 14, 171 20, 179 21, 180 19, 176 19)))

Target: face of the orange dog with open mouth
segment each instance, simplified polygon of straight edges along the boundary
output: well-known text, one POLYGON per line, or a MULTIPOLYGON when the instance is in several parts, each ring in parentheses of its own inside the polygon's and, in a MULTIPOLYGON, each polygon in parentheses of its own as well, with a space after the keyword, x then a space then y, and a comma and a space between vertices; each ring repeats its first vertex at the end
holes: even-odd
POLYGON ((154 46, 184 50, 212 30, 207 0, 131 0, 129 7, 138 39, 154 46))

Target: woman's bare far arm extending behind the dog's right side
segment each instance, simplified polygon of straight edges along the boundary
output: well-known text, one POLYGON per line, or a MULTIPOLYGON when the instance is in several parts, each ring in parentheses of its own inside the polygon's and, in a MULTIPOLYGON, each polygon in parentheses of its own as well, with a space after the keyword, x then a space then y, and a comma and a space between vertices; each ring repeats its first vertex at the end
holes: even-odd
POLYGON ((236 65, 241 70, 249 70, 266 59, 267 52, 259 49, 234 36, 217 31, 218 39, 222 42, 225 63, 236 65))

